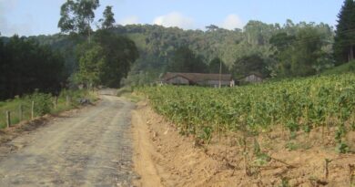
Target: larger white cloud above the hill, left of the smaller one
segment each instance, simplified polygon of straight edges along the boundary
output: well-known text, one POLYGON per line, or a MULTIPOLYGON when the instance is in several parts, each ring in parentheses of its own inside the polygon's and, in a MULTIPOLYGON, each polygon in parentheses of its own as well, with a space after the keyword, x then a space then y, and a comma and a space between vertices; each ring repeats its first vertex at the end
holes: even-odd
POLYGON ((171 12, 167 15, 157 16, 153 24, 159 26, 178 26, 184 29, 194 28, 194 20, 188 16, 183 16, 178 12, 171 12))

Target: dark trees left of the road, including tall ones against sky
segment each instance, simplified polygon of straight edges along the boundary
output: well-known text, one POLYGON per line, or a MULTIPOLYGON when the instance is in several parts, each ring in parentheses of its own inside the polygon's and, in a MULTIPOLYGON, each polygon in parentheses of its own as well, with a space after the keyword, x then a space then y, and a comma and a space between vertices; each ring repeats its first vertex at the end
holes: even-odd
POLYGON ((135 43, 110 29, 115 19, 106 6, 101 26, 91 24, 99 0, 66 0, 54 36, 1 37, 0 100, 38 90, 58 94, 61 88, 119 88, 139 56, 135 43))

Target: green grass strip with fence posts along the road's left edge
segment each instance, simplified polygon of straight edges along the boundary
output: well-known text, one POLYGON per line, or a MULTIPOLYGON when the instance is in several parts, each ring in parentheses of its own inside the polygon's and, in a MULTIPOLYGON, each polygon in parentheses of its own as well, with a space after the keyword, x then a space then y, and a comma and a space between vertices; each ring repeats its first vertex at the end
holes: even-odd
MULTIPOLYGON (((11 114, 11 124, 15 125, 20 122, 20 114, 19 114, 19 106, 23 107, 23 117, 22 120, 31 119, 31 106, 32 100, 35 99, 34 95, 28 95, 22 98, 8 99, 5 101, 0 101, 0 129, 4 129, 6 127, 6 111, 10 111, 11 114)), ((76 108, 79 103, 78 100, 81 98, 90 99, 92 102, 96 101, 97 97, 94 93, 88 92, 86 90, 64 90, 61 92, 58 97, 58 102, 56 105, 56 109, 54 109, 54 97, 50 96, 50 100, 42 100, 41 102, 48 102, 50 105, 51 114, 57 114, 61 111, 67 109, 76 108), (70 96, 72 102, 69 106, 66 106, 66 95, 70 96)), ((38 106, 35 104, 35 107, 38 106)), ((35 112, 34 117, 38 117, 40 114, 35 112)))

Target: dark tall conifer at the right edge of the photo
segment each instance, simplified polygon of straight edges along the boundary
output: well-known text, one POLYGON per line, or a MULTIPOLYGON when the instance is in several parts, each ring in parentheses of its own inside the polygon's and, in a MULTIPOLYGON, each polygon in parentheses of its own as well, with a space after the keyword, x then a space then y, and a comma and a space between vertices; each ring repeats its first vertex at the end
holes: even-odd
POLYGON ((352 60, 355 47, 355 2, 353 0, 345 0, 340 9, 334 40, 337 65, 352 60))

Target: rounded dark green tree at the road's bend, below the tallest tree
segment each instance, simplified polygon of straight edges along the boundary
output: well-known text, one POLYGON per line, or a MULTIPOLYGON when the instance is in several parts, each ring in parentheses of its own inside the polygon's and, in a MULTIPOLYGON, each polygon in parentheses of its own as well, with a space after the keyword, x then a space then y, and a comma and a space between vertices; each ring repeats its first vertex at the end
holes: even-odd
POLYGON ((75 80, 86 86, 119 88, 138 55, 135 43, 125 36, 98 30, 92 43, 79 47, 79 69, 75 80))

